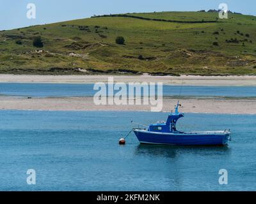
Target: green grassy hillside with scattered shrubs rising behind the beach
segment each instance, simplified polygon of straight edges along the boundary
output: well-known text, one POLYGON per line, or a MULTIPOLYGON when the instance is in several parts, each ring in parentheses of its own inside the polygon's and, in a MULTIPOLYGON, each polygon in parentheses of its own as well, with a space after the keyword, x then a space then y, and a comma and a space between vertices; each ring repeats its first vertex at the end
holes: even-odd
POLYGON ((127 13, 1 31, 0 73, 255 75, 256 17, 228 17, 127 13))

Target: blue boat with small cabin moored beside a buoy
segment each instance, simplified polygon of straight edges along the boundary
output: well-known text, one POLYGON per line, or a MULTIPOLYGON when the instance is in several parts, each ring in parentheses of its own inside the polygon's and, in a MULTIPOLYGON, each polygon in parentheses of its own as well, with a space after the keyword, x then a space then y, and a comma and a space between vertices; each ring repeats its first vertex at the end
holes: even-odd
POLYGON ((184 117, 179 113, 179 101, 175 112, 168 115, 166 122, 160 121, 150 124, 148 129, 134 128, 132 131, 140 143, 158 145, 220 145, 225 146, 230 140, 230 130, 225 131, 197 131, 184 133, 176 129, 177 120, 184 117))

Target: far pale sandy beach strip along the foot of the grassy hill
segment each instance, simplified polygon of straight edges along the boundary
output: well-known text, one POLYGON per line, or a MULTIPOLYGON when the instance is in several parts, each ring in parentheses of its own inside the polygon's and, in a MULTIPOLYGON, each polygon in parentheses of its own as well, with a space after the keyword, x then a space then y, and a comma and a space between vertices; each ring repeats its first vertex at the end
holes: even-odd
POLYGON ((0 75, 0 83, 51 83, 51 84, 94 84, 114 82, 163 82, 164 85, 204 85, 204 86, 256 86, 256 76, 197 76, 181 75, 0 75))

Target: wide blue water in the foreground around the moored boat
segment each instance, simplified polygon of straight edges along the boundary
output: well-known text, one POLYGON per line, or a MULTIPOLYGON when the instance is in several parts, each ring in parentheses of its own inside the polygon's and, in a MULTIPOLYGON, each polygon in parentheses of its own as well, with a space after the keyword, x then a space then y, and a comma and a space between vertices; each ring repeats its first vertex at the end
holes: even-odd
POLYGON ((189 113, 179 129, 231 129, 228 147, 140 145, 119 138, 130 118, 164 120, 153 112, 0 111, 1 191, 256 190, 256 115, 189 113), (202 122, 204 121, 204 122, 202 122), (26 171, 36 170, 36 185, 26 171), (228 170, 228 185, 218 171, 228 170))

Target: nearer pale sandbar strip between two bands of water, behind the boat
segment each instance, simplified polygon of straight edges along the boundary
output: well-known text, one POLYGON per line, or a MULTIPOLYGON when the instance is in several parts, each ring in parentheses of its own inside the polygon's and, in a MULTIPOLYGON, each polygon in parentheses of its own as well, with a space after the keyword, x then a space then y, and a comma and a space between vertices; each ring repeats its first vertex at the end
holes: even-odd
MULTIPOLYGON (((163 112, 173 110, 177 99, 164 98, 163 112)), ((182 99, 181 112, 256 114, 256 99, 182 99)), ((151 105, 95 105, 92 97, 0 97, 1 110, 150 111, 151 105)))

